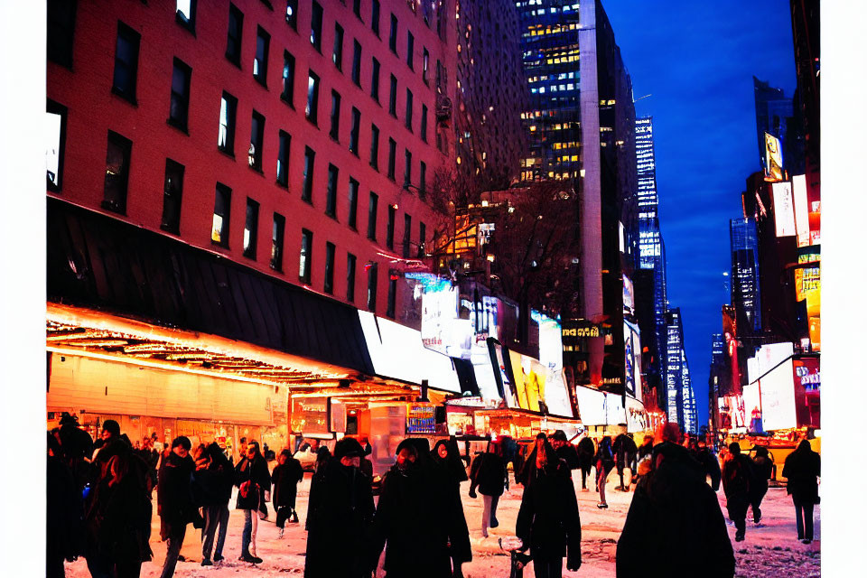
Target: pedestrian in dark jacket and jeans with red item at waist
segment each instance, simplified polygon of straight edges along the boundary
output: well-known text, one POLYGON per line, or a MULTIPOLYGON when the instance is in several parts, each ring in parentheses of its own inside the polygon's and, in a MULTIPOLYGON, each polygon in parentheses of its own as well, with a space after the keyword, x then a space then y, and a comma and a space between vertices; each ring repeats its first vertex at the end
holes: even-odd
POLYGON ((262 558, 256 556, 256 530, 259 527, 258 510, 265 491, 271 489, 271 472, 259 446, 255 442, 247 445, 247 453, 235 466, 235 485, 238 486, 238 499, 235 508, 244 511, 244 529, 241 532, 241 555, 238 560, 259 564, 262 558))

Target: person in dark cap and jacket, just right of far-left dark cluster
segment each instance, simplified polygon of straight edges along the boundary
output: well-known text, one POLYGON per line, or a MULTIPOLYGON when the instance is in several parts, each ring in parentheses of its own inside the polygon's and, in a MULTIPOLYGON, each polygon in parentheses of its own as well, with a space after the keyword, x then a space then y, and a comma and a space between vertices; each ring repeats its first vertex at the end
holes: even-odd
POLYGON ((199 513, 192 501, 192 472, 195 462, 190 456, 190 438, 172 440, 172 452, 163 459, 156 486, 157 512, 160 515, 160 538, 167 542, 162 578, 171 578, 181 554, 187 524, 201 527, 199 513))

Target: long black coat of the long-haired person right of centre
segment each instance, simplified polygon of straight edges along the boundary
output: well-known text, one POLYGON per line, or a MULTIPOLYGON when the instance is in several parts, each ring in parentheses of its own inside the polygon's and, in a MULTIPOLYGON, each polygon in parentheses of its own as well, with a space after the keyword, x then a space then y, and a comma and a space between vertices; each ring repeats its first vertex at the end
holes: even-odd
POLYGON ((569 467, 552 461, 529 474, 517 513, 515 534, 530 546, 534 558, 567 556, 570 567, 581 565, 581 519, 569 467))

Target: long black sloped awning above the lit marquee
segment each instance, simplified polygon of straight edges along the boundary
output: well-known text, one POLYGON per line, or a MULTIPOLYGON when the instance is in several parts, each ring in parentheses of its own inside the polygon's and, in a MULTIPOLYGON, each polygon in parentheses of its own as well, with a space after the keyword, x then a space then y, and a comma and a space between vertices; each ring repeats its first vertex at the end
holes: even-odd
POLYGON ((374 373, 358 312, 165 235, 48 199, 47 295, 374 373))

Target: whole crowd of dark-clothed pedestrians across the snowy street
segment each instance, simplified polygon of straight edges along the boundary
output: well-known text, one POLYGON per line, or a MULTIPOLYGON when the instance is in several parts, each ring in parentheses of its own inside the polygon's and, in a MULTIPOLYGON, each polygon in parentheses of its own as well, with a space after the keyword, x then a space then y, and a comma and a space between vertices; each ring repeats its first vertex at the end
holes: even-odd
MULTIPOLYGON (((178 436, 158 443, 155 435, 131 443, 114 420, 102 424, 94 442, 74 417, 64 415, 48 435, 47 568, 63 576, 64 560, 83 556, 89 572, 102 576, 138 576, 150 561, 152 497, 166 543, 162 577, 169 578, 182 559, 190 524, 200 529, 201 565, 225 558, 229 503, 243 512, 239 560, 258 564, 256 530, 275 510, 278 537, 287 523, 298 524, 297 485, 301 463, 292 452, 276 455, 255 441, 241 440, 233 464, 217 443, 192 447, 178 436), (275 461, 273 470, 269 460, 275 461), (275 459, 276 458, 276 459, 275 459), (237 489, 237 491, 236 491, 237 489)), ((406 438, 396 448, 394 465, 374 498, 369 443, 343 438, 316 450, 305 529, 304 576, 369 578, 385 550, 388 578, 461 577, 471 561, 470 532, 464 516, 461 482, 469 480, 469 499, 482 500, 481 533, 499 526, 499 498, 508 488, 508 464, 523 486, 515 534, 518 548, 529 551, 536 578, 561 576, 582 564, 581 520, 577 492, 589 491, 596 471, 598 508, 608 505, 605 484, 616 468, 620 491, 633 491, 617 545, 617 575, 688 575, 695 564, 731 577, 734 555, 716 492, 722 484, 728 516, 745 536, 746 516, 760 524, 761 501, 773 468, 768 452, 756 457, 732 443, 720 461, 701 439, 681 436, 667 424, 640 446, 622 433, 599 443, 583 437, 570 443, 562 431, 536 435, 523 451, 510 438, 488 443, 469 464, 454 439, 433 449, 426 438, 406 438), (629 478, 625 478, 626 470, 629 478), (581 485, 577 471, 581 471, 581 485), (576 471, 573 475, 573 471, 576 471), (335 555, 335 547, 339 555, 335 555)), ((797 512, 797 537, 813 538, 813 508, 818 502, 819 458, 806 441, 786 461, 783 476, 797 512)))

